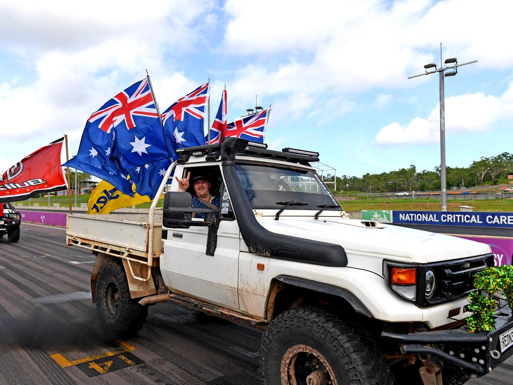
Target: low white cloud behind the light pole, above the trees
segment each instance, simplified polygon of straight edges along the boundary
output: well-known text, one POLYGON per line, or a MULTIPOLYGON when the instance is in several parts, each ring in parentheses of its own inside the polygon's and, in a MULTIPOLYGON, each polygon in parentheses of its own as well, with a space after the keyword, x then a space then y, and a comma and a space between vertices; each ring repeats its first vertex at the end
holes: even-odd
MULTIPOLYGON (((500 97, 485 96, 482 92, 445 99, 445 131, 479 132, 490 128, 501 118, 513 114, 513 83, 500 97)), ((426 144, 440 140, 440 107, 437 105, 427 118, 413 118, 408 124, 390 123, 374 138, 375 145, 426 144)))

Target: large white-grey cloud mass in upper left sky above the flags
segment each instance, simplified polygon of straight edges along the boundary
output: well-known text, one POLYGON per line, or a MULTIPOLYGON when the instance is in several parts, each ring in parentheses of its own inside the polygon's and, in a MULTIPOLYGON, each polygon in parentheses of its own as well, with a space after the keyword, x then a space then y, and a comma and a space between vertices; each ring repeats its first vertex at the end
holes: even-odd
POLYGON ((0 85, 2 139, 24 142, 37 135, 43 145, 66 132, 74 148, 89 115, 146 69, 163 108, 192 91, 198 85, 165 57, 170 48, 190 50, 204 32, 192 24, 209 12, 211 1, 188 5, 165 2, 156 11, 133 0, 123 6, 0 4, 0 43, 34 69, 33 80, 15 76, 0 85))

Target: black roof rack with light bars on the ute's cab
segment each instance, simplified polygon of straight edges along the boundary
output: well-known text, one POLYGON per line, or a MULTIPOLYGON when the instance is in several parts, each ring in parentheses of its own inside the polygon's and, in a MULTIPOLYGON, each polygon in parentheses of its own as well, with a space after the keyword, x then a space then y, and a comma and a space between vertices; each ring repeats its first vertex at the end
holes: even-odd
MULTIPOLYGON (((240 138, 226 138, 230 140, 231 151, 238 155, 253 155, 262 158, 284 160, 303 165, 310 165, 310 162, 319 162, 319 152, 284 148, 282 151, 268 150, 267 144, 247 141, 240 138)), ((184 147, 176 149, 179 156, 178 164, 185 164, 190 157, 206 156, 206 161, 216 161, 221 157, 221 146, 223 143, 207 144, 204 146, 184 147)), ((224 159, 223 159, 224 160, 224 159)))

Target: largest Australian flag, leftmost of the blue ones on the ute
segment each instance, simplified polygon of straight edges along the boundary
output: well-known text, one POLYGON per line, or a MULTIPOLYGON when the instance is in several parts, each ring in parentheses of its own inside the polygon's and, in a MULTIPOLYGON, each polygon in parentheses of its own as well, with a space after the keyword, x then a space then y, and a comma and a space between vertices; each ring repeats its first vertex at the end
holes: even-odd
MULTIPOLYGON (((70 166, 101 178, 133 196, 129 170, 169 159, 161 120, 145 78, 93 112, 70 166)), ((138 186, 136 184, 136 192, 138 186)), ((143 194, 144 195, 144 194, 143 194)))

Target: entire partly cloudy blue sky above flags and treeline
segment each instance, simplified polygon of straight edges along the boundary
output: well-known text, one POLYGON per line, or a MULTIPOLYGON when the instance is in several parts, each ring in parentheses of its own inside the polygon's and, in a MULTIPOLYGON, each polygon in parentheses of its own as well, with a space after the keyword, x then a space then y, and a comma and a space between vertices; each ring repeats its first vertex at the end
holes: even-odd
POLYGON ((229 121, 257 94, 270 147, 317 150, 338 175, 432 170, 438 75, 407 77, 440 63, 440 42, 478 60, 445 79, 447 165, 513 152, 509 1, 18 3, 0 2, 2 171, 63 133, 73 155, 146 69, 161 110, 208 78, 212 116, 224 85, 229 121))

